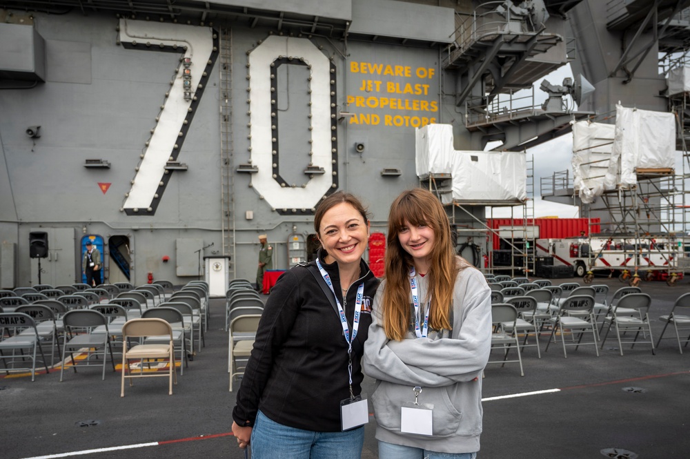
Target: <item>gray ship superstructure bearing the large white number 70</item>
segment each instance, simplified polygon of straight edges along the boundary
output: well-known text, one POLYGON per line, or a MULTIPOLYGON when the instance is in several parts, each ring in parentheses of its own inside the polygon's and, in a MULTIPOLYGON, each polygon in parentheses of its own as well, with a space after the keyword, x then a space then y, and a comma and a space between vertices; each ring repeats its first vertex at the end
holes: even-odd
MULTIPOLYGON (((111 283, 182 284, 216 266, 253 280, 257 235, 276 268, 308 259, 314 209, 339 189, 383 232, 400 191, 435 183, 415 173, 417 128, 451 125, 455 150, 521 151, 614 98, 666 110, 657 28, 633 32, 649 50, 620 40, 688 3, 2 1, 0 287, 79 282, 86 240, 111 283), (599 14, 631 7, 636 22, 615 28, 599 14), (620 64, 603 71, 611 54, 620 64), (576 78, 542 85, 543 105, 513 103, 569 62, 595 96, 576 78)), ((459 244, 483 253, 485 205, 452 209, 459 244)))

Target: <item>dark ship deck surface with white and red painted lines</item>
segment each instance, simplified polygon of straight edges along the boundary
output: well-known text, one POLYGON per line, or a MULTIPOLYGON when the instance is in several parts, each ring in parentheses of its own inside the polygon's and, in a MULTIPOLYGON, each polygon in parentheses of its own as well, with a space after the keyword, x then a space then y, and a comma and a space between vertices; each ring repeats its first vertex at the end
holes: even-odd
MULTIPOLYGON (((609 297, 623 286, 616 279, 596 278, 599 282, 609 284, 609 297)), ((658 316, 669 313, 676 297, 689 290, 688 281, 674 287, 646 282, 642 289, 653 298, 656 340, 663 326, 658 316)), ((112 369, 106 369, 104 381, 96 368, 70 371, 64 382, 59 371, 39 374, 35 382, 26 376, 1 378, 0 456, 244 458, 230 433, 235 393, 228 392, 224 307, 224 299, 211 300, 206 347, 184 375, 178 373, 172 396, 166 380, 153 378, 137 380, 120 398, 119 373, 112 369)), ((480 458, 614 457, 604 456, 606 449, 621 458, 633 457, 624 451, 640 459, 687 457, 690 349, 681 355, 675 340, 664 340, 656 355, 640 344, 624 346, 620 356, 615 335, 609 335, 599 358, 593 346, 569 349, 564 358, 560 343, 548 352, 546 337, 541 344, 541 359, 534 348, 524 351, 524 377, 517 364, 486 369, 480 458), (524 395, 535 391, 549 392, 524 395), (502 398, 514 394, 524 396, 502 398)), ((371 378, 365 378, 363 389, 364 395, 371 393, 371 378)), ((377 457, 374 435, 371 416, 362 458, 377 457)))

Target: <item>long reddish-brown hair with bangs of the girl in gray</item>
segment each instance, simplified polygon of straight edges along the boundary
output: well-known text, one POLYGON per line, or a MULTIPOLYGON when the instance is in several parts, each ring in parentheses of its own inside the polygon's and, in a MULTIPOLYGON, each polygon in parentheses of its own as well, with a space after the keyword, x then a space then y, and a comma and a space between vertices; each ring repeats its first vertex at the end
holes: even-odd
POLYGON ((428 290, 433 292, 429 310, 431 328, 451 329, 455 277, 464 267, 455 256, 451 225, 440 200, 423 188, 400 194, 388 214, 386 288, 382 298, 384 331, 389 339, 398 341, 405 338, 410 323, 409 273, 414 265, 412 255, 402 248, 397 237, 405 221, 411 225, 426 225, 434 233, 433 247, 428 255, 431 268, 426 274, 428 290))

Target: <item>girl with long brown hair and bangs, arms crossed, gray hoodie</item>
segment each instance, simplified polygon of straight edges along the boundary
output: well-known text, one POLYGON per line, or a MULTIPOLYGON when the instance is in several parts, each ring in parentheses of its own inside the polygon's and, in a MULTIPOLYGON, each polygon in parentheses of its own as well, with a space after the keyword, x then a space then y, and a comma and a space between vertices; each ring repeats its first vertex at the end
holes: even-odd
POLYGON ((380 459, 473 459, 482 432, 482 370, 491 290, 455 255, 439 199, 415 188, 388 215, 386 278, 364 345, 380 459))

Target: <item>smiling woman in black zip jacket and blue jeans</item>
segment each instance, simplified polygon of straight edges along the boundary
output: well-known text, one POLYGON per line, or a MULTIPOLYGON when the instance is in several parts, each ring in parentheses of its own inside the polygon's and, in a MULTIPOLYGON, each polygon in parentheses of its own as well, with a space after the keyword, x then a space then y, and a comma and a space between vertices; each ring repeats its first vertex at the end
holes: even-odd
POLYGON ((279 277, 237 393, 233 433, 255 459, 359 458, 368 420, 360 360, 378 280, 362 254, 369 220, 355 196, 324 199, 317 260, 279 277))

